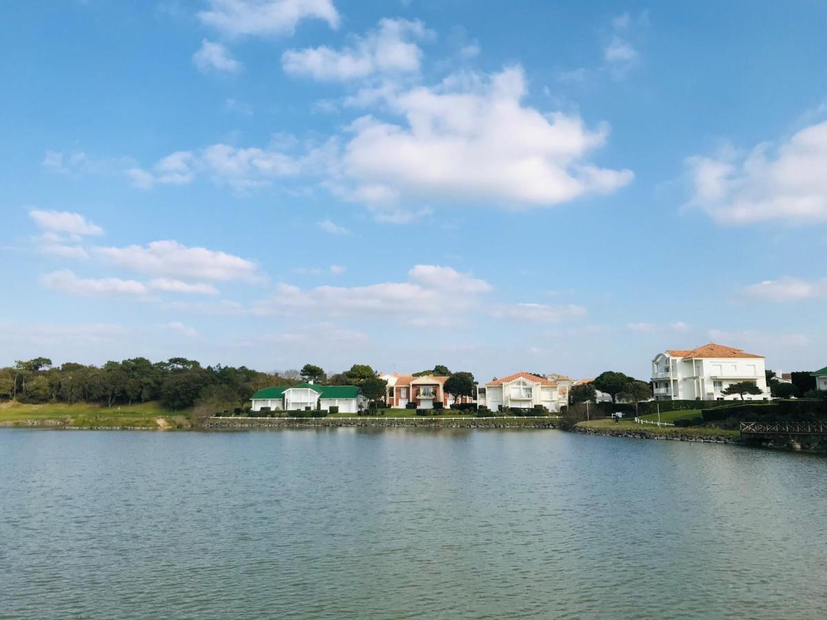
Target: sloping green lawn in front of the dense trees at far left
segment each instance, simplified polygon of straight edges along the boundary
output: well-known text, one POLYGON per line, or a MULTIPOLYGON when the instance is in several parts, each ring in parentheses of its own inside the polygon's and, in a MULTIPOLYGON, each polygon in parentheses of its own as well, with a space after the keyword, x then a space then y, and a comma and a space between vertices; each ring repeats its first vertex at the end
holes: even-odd
POLYGON ((138 403, 112 408, 88 403, 0 404, 0 423, 56 420, 69 427, 188 428, 188 412, 173 413, 158 403, 138 403))

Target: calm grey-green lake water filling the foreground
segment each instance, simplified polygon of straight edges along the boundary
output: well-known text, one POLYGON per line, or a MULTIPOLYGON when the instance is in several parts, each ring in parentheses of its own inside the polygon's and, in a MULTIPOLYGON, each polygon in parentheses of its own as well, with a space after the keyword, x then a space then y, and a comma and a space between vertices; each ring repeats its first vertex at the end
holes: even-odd
POLYGON ((557 431, 0 431, 0 617, 825 618, 827 458, 557 431))

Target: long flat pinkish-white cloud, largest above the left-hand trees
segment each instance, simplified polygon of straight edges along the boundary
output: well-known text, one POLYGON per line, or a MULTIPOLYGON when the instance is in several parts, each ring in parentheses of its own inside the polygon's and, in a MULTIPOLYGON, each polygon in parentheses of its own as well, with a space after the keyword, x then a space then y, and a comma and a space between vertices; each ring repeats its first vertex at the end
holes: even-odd
POLYGON ((148 246, 98 247, 104 260, 141 274, 197 280, 261 279, 256 263, 240 256, 182 246, 177 241, 153 241, 148 246))

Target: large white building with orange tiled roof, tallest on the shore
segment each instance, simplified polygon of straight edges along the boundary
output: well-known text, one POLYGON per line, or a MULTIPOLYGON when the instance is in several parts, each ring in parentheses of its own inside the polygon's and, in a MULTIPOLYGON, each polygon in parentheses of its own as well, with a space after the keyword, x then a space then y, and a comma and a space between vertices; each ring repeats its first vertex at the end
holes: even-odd
POLYGON ((731 346, 708 345, 696 349, 667 349, 652 360, 652 384, 656 400, 734 400, 725 396, 729 385, 749 381, 760 395, 744 394, 745 400, 767 400, 763 355, 744 353, 731 346))

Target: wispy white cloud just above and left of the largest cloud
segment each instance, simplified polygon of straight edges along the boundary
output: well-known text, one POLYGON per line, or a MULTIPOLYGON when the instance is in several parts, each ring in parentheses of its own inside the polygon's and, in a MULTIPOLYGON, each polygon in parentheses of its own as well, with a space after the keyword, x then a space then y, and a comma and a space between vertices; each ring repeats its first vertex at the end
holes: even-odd
POLYGON ((347 82, 373 74, 412 73, 419 70, 422 50, 410 40, 433 36, 422 21, 382 19, 366 36, 352 37, 351 45, 332 50, 326 45, 287 50, 281 56, 284 71, 319 81, 347 82))

